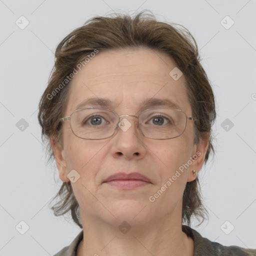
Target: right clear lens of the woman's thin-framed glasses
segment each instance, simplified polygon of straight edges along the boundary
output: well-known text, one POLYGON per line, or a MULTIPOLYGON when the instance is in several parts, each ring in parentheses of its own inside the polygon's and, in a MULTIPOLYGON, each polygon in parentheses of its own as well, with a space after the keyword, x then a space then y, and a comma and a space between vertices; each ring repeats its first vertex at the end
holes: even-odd
POLYGON ((138 122, 141 132, 148 138, 174 138, 184 132, 186 115, 177 109, 147 109, 139 115, 138 122))

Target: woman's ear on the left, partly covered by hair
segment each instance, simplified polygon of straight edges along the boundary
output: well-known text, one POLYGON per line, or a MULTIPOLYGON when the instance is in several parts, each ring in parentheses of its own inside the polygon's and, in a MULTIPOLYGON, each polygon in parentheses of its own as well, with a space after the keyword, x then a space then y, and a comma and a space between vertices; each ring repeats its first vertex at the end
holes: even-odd
POLYGON ((64 150, 58 143, 56 143, 53 140, 53 138, 50 139, 50 145, 51 145, 51 148, 52 148, 54 156, 55 156, 55 161, 56 161, 56 165, 57 165, 57 169, 58 169, 59 178, 62 181, 68 182, 69 179, 66 176, 68 171, 67 171, 67 164, 66 164, 66 159, 65 159, 65 155, 64 155, 64 150))

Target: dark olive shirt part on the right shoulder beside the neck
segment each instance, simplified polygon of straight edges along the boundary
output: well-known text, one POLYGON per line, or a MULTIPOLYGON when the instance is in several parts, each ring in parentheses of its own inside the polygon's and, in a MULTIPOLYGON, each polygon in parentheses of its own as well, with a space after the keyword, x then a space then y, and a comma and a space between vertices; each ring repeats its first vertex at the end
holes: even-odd
POLYGON ((194 256, 256 256, 256 249, 247 249, 235 245, 224 246, 202 237, 190 226, 182 225, 182 231, 194 240, 194 256))

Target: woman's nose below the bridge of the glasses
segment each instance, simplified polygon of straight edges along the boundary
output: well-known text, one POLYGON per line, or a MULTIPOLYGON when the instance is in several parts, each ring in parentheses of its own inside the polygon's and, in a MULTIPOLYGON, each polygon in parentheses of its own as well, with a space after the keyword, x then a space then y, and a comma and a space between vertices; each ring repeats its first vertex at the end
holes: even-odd
POLYGON ((144 157, 146 150, 136 116, 123 115, 121 117, 113 137, 112 155, 114 157, 122 156, 126 159, 144 157))

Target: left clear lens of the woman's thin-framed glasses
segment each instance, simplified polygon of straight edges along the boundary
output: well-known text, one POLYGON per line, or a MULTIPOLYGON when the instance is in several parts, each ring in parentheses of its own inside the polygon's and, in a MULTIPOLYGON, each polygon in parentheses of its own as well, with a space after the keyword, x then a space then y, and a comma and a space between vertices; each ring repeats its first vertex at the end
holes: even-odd
POLYGON ((111 136, 117 122, 118 115, 103 108, 80 109, 70 115, 73 133, 85 139, 101 139, 111 136))

